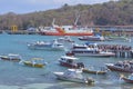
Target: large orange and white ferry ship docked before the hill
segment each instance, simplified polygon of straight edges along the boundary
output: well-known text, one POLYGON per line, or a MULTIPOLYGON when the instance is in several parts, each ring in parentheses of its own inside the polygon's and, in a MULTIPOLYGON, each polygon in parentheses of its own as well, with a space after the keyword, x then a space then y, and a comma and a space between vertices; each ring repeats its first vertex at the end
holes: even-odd
POLYGON ((54 24, 54 19, 52 27, 40 28, 41 34, 45 36, 92 36, 93 30, 91 28, 84 28, 76 26, 76 21, 73 26, 58 26, 54 24))

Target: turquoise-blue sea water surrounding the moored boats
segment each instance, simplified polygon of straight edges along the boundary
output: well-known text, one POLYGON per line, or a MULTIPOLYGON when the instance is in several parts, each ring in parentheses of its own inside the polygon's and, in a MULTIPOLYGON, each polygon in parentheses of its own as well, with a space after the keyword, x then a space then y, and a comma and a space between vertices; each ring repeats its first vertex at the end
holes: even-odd
MULTIPOLYGON (((93 85, 84 85, 58 80, 53 75, 54 71, 65 71, 68 68, 61 67, 58 59, 65 55, 65 51, 52 50, 31 50, 28 49, 29 42, 45 40, 51 41, 59 37, 39 36, 39 34, 0 34, 0 55, 19 53, 23 60, 31 58, 43 58, 47 63, 44 68, 31 68, 22 66, 18 62, 0 60, 0 89, 132 89, 132 83, 120 80, 119 72, 109 71, 104 76, 83 73, 95 80, 93 85)), ((76 37, 71 37, 78 43, 83 43, 76 37)), ((106 41, 99 43, 109 44, 126 44, 133 46, 126 41, 106 41)), ((66 44, 68 46, 68 44, 66 44)), ((69 48, 68 46, 66 48, 69 48)), ((82 61, 86 67, 100 66, 116 62, 119 60, 132 60, 130 58, 94 58, 79 57, 78 61, 82 61)))

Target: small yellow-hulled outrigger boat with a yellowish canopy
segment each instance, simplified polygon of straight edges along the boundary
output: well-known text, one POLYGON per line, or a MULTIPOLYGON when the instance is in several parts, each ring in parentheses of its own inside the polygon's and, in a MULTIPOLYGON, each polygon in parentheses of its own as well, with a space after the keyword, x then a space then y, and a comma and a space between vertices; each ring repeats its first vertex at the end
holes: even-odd
POLYGON ((19 63, 28 67, 34 67, 34 68, 43 68, 45 66, 45 62, 42 58, 32 58, 31 60, 21 60, 19 63))

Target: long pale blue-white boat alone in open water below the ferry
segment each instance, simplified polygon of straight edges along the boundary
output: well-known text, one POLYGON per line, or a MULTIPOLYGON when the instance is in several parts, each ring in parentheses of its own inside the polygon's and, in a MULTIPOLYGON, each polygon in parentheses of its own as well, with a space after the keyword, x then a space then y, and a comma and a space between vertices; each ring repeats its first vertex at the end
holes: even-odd
POLYGON ((42 49, 42 50, 64 50, 63 43, 53 40, 49 41, 37 41, 28 44, 30 49, 42 49))

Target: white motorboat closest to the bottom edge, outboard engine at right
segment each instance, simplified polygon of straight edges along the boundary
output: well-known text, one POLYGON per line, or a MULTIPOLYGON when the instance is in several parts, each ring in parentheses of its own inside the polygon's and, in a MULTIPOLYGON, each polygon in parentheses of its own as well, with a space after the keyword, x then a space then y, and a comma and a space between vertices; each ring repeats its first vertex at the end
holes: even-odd
POLYGON ((81 82, 81 83, 92 83, 94 80, 92 78, 86 78, 82 76, 81 69, 68 69, 64 72, 53 72, 58 79, 81 82))

